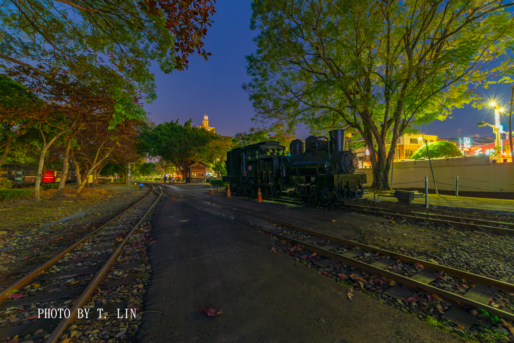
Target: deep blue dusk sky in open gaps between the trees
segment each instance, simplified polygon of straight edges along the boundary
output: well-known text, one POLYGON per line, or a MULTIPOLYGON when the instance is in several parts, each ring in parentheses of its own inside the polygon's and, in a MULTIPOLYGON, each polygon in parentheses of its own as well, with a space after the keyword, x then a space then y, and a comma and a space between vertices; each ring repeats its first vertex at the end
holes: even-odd
MULTIPOLYGON (((145 110, 156 122, 175 121, 183 124, 189 118, 193 124, 201 124, 204 113, 209 116, 209 124, 216 133, 233 136, 237 132, 248 131, 255 127, 251 121, 253 108, 248 94, 241 85, 250 80, 246 75, 245 56, 255 50, 253 37, 257 31, 249 28, 251 0, 223 0, 216 2, 213 25, 205 39, 205 50, 212 52, 206 62, 196 54, 189 58, 189 70, 164 74, 154 67, 156 75, 157 99, 145 104, 145 110)), ((502 85, 499 88, 507 88, 502 85)), ((508 110, 510 91, 487 92, 487 96, 502 98, 508 110)), ((478 128, 476 122, 494 122, 492 109, 476 110, 471 106, 455 110, 454 119, 435 121, 421 127, 425 134, 435 134, 442 138, 479 134, 492 136, 489 127, 478 128)), ((508 128, 507 116, 502 118, 505 130, 508 128)), ((308 130, 299 128, 296 136, 304 139, 308 130)))

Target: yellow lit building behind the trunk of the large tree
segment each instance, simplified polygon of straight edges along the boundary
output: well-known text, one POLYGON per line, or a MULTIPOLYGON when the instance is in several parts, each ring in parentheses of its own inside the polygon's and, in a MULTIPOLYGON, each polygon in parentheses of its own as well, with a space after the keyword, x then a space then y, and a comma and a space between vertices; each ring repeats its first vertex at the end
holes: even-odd
MULTIPOLYGON (((403 134, 403 136, 399 137, 396 141, 396 153, 394 155, 394 160, 411 159, 416 150, 425 144, 425 139, 428 139, 429 143, 433 143, 437 141, 437 136, 425 135, 422 133, 403 134)), ((368 149, 368 146, 364 146, 364 148, 356 150, 356 153, 361 167, 371 167, 370 150, 368 149)))

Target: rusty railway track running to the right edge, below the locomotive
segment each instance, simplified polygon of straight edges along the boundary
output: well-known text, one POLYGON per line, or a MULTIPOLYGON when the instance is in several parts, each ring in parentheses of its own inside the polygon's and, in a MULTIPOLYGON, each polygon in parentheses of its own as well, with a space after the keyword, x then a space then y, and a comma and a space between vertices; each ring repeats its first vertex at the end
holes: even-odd
MULTIPOLYGON (((270 237, 276 237, 279 241, 289 242, 289 245, 284 244, 278 249, 287 251, 300 262, 312 264, 327 276, 334 277, 336 274, 340 278, 342 276, 353 280, 354 285, 361 288, 363 292, 368 292, 369 288, 372 290, 380 288, 388 298, 403 303, 416 301, 423 304, 441 299, 451 305, 447 309, 442 306, 438 308, 442 318, 464 328, 473 326, 477 319, 467 311, 472 308, 485 310, 502 319, 514 320, 514 308, 511 305, 498 308, 499 305, 492 300, 497 295, 506 296, 506 293, 514 293, 513 284, 304 229, 247 211, 174 194, 167 190, 164 192, 169 195, 163 196, 176 202, 260 230, 270 237), (245 220, 199 206, 197 203, 260 218, 277 226, 277 229, 268 230, 245 220), (341 270, 343 272, 337 273, 341 270), (350 270, 350 272, 344 273, 344 270, 350 270)), ((413 313, 425 316, 423 311, 424 306, 420 305, 413 310, 413 313)))

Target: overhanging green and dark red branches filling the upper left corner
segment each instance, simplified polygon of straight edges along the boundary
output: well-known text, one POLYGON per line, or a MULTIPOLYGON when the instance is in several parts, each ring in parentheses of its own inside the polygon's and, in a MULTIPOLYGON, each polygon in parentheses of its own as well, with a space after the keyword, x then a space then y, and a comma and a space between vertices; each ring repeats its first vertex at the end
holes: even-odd
MULTIPOLYGON (((155 98, 155 61, 165 73, 187 68, 195 50, 207 59, 203 39, 215 0, 8 0, 0 4, 0 62, 22 66, 49 82, 73 87, 32 62, 56 70, 87 69, 97 54, 155 98)), ((53 70, 53 71, 56 71, 53 70)), ((74 74, 74 73, 70 73, 74 74)))

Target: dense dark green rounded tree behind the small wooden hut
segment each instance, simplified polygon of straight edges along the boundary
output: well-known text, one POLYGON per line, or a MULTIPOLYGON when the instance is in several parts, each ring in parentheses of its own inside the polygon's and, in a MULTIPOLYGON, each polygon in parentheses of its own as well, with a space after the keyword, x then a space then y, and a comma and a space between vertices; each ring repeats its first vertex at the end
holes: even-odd
POLYGON ((161 163, 173 164, 184 176, 185 168, 195 160, 205 160, 208 143, 219 135, 204 128, 191 127, 191 119, 183 125, 176 121, 163 122, 155 129, 143 131, 140 150, 161 163))

